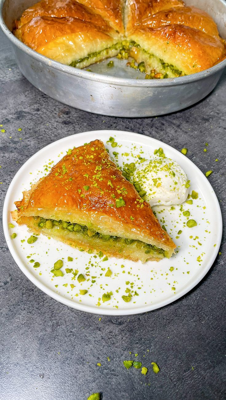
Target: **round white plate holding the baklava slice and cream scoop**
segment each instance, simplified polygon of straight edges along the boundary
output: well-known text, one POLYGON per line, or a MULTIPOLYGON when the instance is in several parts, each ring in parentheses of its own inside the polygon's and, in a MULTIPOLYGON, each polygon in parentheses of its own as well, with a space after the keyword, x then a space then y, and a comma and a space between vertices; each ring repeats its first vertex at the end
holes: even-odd
POLYGON ((34 154, 20 168, 10 184, 4 202, 3 227, 14 260, 22 272, 43 292, 77 310, 102 315, 128 315, 165 306, 200 282, 218 253, 222 236, 222 217, 218 200, 208 180, 186 156, 167 144, 146 136, 101 130, 68 136, 34 154), (112 148, 110 143, 107 143, 110 136, 115 138, 117 147, 112 148), (197 221, 197 226, 186 226, 189 218, 183 215, 180 206, 175 206, 174 210, 171 210, 170 206, 154 207, 160 222, 164 223, 178 246, 178 252, 172 258, 146 264, 116 258, 103 261, 103 257, 80 252, 42 235, 38 236, 34 244, 28 244, 27 238, 30 237, 30 233, 26 226, 18 228, 14 223, 14 228, 8 227, 8 224, 13 222, 10 211, 15 209, 14 201, 22 198, 22 190, 29 189, 31 183, 47 174, 51 166, 66 154, 68 148, 94 139, 104 142, 112 160, 118 165, 134 162, 138 154, 150 158, 156 148, 162 147, 166 156, 178 162, 186 172, 191 185, 189 192, 193 189, 198 192, 198 199, 193 200, 193 204, 184 203, 182 206, 183 210, 190 211, 190 218, 197 221), (119 153, 117 160, 113 151, 119 153), (179 230, 182 230, 182 233, 178 235, 179 230), (12 239, 11 235, 14 232, 17 236, 12 239), (72 262, 68 262, 68 256, 73 258, 72 262), (32 259, 40 262, 39 268, 33 267, 34 263, 30 262, 32 259), (58 259, 64 259, 63 277, 54 277, 50 272, 58 259), (170 270, 170 267, 174 269, 170 270), (78 270, 86 276, 86 281, 79 283, 77 277, 72 280, 72 273, 65 273, 65 268, 78 270), (108 268, 112 271, 110 277, 105 276, 108 268), (130 302, 124 302, 122 299, 122 296, 126 295, 126 288, 132 290, 133 295, 135 291, 138 294, 134 295, 130 302), (88 293, 80 295, 80 289, 87 289, 88 293), (102 294, 110 291, 110 301, 102 302, 102 294))

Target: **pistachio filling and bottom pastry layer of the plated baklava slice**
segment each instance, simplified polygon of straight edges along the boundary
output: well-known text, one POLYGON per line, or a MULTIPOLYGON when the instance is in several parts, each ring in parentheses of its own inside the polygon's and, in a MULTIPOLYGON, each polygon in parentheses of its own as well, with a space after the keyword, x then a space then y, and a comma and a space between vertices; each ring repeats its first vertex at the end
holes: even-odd
POLYGON ((169 248, 167 251, 140 240, 102 235, 79 224, 70 224, 70 222, 61 220, 46 220, 33 216, 18 218, 17 211, 12 211, 11 215, 18 225, 26 224, 29 232, 33 234, 43 234, 90 254, 102 252, 109 257, 124 258, 134 262, 140 260, 142 263, 160 261, 162 258, 170 258, 172 254, 175 254, 173 248, 169 248))

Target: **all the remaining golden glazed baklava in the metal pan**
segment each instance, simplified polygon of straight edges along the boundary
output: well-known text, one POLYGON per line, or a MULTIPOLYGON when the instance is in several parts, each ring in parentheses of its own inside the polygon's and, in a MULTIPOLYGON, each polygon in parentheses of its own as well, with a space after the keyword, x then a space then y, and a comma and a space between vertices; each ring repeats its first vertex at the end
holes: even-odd
POLYGON ((18 39, 62 64, 130 56, 147 79, 194 74, 226 56, 214 20, 182 0, 42 0, 15 25, 18 39))

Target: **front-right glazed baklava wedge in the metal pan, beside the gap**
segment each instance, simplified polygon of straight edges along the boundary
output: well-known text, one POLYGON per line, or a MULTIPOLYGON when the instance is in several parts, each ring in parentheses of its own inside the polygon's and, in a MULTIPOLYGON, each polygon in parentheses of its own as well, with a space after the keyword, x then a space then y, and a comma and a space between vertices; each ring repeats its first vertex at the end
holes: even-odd
POLYGON ((161 78, 194 74, 225 57, 223 40, 183 24, 158 28, 141 25, 128 34, 128 39, 134 41, 130 56, 138 64, 142 63, 142 72, 150 77, 155 72, 161 74, 161 78))

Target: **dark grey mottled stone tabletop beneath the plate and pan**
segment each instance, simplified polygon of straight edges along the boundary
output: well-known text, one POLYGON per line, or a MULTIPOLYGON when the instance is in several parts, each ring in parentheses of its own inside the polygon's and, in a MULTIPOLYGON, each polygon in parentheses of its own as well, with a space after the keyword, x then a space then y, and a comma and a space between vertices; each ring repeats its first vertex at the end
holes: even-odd
MULTIPOLYGON (((202 172, 213 170, 209 181, 225 222, 226 75, 208 98, 187 110, 158 118, 112 118, 48 98, 21 75, 2 35, 0 46, 0 123, 6 130, 0 133, 1 206, 18 169, 42 147, 76 132, 118 129, 178 150, 187 147, 188 158, 202 172)), ((180 300, 146 314, 99 321, 36 288, 12 259, 1 225, 0 399, 85 400, 92 392, 101 392, 103 400, 226 398, 225 225, 220 251, 204 280, 180 300), (160 373, 150 368, 144 378, 134 369, 127 372, 122 361, 130 359, 129 351, 141 358, 146 354, 149 368, 156 361, 160 373)))

